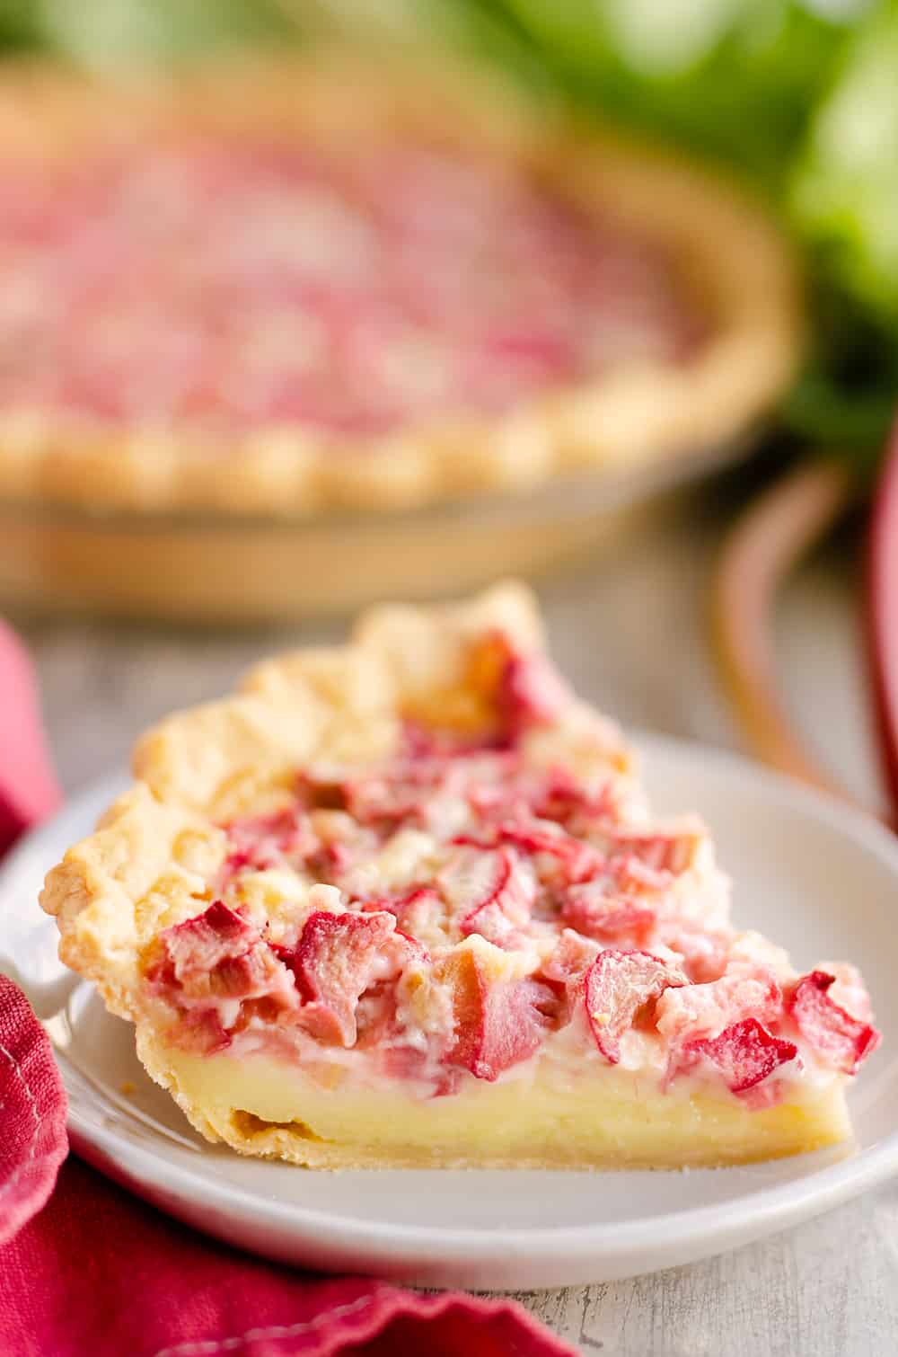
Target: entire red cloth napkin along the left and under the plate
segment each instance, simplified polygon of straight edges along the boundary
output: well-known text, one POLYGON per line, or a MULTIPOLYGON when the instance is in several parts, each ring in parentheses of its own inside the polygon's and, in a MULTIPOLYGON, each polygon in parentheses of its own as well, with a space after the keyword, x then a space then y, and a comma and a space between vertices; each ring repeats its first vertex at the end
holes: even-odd
MULTIPOLYGON (((58 799, 27 655, 1 624, 0 750, 1 849, 58 799)), ((323 1280, 250 1258, 170 1220, 80 1160, 62 1164, 66 1152, 65 1092, 50 1044, 22 992, 0 977, 3 1357, 574 1352, 513 1301, 323 1280)))

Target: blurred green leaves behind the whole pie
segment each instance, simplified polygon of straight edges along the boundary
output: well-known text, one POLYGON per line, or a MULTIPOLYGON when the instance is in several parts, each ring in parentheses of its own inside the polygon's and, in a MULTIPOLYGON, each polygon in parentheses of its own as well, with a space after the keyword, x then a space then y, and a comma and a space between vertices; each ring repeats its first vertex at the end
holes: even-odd
POLYGON ((894 0, 0 0, 8 54, 95 68, 321 37, 452 50, 745 175, 814 285, 815 361, 785 425, 879 445, 898 368, 894 0))

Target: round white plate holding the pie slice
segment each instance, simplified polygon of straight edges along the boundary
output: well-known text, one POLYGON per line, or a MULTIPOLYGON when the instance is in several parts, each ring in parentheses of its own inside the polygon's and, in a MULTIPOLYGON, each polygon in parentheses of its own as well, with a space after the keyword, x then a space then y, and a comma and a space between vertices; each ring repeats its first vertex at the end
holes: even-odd
POLYGON ((137 1064, 130 1027, 56 961, 41 879, 122 786, 110 779, 31 835, 0 875, 0 968, 47 1023, 75 1147, 213 1235, 304 1266, 435 1286, 562 1286, 690 1262, 792 1225, 898 1168, 898 847, 872 821, 741 760, 642 742, 659 810, 697 807, 735 881, 735 916, 800 966, 864 970, 883 1046, 851 1095, 845 1153, 690 1172, 311 1172, 199 1140, 137 1064), (133 1086, 123 1092, 122 1086, 133 1086))

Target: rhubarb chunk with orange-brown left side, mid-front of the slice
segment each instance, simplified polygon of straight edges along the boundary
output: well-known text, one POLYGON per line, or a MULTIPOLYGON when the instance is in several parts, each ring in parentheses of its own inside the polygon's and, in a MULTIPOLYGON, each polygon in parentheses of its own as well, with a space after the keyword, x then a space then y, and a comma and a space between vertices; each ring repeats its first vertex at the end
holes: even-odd
POLYGON ((448 966, 454 1019, 446 1061, 492 1082, 526 1060, 553 1025, 558 999, 536 980, 495 980, 473 951, 460 951, 448 966))

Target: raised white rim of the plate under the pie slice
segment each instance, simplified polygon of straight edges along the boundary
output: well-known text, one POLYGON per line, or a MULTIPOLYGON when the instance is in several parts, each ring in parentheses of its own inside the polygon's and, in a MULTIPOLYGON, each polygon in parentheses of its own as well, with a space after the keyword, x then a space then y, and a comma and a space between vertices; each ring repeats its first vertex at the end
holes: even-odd
MULTIPOLYGON (((882 826, 872 814, 727 749, 632 727, 629 737, 638 753, 644 752, 648 759, 659 756, 662 760, 676 761, 701 757, 722 773, 747 782, 756 792, 772 797, 780 805, 788 805, 791 810, 798 810, 818 822, 822 821, 830 832, 853 839, 864 851, 872 852, 898 881, 898 837, 882 826)), ((104 797, 111 799, 121 792, 126 780, 121 768, 92 780, 75 792, 56 816, 26 835, 0 867, 0 898, 22 859, 34 855, 35 849, 39 852, 42 840, 54 833, 54 826, 61 818, 71 814, 80 802, 102 803, 104 797)), ((79 1073, 64 1053, 54 1049, 54 1057, 61 1067, 64 1080, 69 1071, 79 1073)), ((140 1193, 145 1185, 148 1191, 161 1189, 168 1197, 174 1194, 183 1202, 197 1201, 197 1174, 189 1166, 160 1159, 152 1148, 119 1136, 114 1128, 91 1124, 79 1115, 77 1109, 69 1110, 69 1134, 73 1147, 104 1172, 121 1168, 132 1190, 140 1193)), ((313 1232, 320 1244, 330 1243, 343 1250, 373 1248, 385 1262, 400 1262, 414 1251, 422 1263, 464 1262, 477 1266, 492 1261, 496 1247, 510 1250, 517 1257, 539 1254, 551 1247, 555 1253, 563 1251, 572 1262, 589 1261, 598 1265, 620 1254, 633 1254, 640 1247, 650 1247, 659 1236, 663 1236, 665 1247, 671 1251, 690 1250, 700 1244, 703 1255, 712 1254, 733 1243, 757 1239, 829 1210, 897 1171, 898 1124, 874 1145, 849 1153, 836 1163, 813 1168, 799 1178, 760 1186, 751 1193, 723 1202, 685 1206, 635 1220, 486 1228, 391 1223, 343 1213, 334 1215, 317 1206, 263 1197, 251 1187, 231 1183, 214 1174, 202 1175, 202 1204, 213 1213, 216 1208, 224 1208, 231 1216, 236 1215, 241 1223, 250 1223, 251 1219, 256 1227, 274 1228, 281 1238, 292 1235, 298 1239, 307 1232, 313 1232), (739 1209, 746 1201, 751 1204, 750 1219, 746 1219, 743 1206, 739 1209)), ((469 1172, 476 1174, 477 1170, 469 1172)), ((209 1232, 220 1234, 214 1228, 209 1232)))

